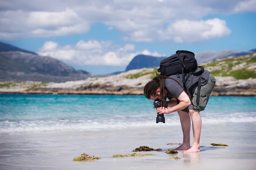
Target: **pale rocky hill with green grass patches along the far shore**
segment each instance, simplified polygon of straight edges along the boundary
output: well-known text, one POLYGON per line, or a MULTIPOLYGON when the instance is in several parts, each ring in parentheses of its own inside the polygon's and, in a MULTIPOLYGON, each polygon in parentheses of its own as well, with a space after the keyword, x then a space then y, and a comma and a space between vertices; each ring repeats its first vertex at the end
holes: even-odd
MULTIPOLYGON (((218 59, 203 65, 217 79, 215 96, 256 96, 256 54, 218 59)), ((157 68, 130 70, 109 77, 87 78, 63 83, 1 82, 2 93, 23 94, 115 94, 143 95, 144 85, 157 68)))

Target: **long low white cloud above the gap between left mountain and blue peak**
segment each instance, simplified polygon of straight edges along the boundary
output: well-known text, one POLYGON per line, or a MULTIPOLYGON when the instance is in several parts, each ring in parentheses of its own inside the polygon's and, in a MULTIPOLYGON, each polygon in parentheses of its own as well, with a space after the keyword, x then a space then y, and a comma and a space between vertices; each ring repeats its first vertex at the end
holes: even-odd
POLYGON ((138 54, 155 57, 166 56, 148 50, 135 51, 134 44, 114 45, 111 41, 80 40, 76 45, 60 46, 47 41, 39 48, 38 54, 51 56, 76 65, 116 65, 126 66, 138 54))

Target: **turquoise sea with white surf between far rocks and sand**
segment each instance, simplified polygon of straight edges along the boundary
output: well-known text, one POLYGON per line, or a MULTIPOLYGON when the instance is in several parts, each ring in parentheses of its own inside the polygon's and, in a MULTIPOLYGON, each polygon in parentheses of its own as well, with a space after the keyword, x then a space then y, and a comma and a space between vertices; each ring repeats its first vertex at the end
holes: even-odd
MULTIPOLYGON (((203 124, 256 122, 256 97, 211 96, 203 124)), ((177 112, 165 126, 180 125, 177 112)), ((144 96, 0 94, 0 133, 161 127, 144 96)))

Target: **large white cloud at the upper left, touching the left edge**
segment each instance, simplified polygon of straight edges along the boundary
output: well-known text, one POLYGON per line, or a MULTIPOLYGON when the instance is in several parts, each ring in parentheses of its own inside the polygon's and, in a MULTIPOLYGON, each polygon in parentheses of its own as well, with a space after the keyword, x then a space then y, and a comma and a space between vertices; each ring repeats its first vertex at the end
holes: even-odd
POLYGON ((90 27, 70 9, 58 12, 0 11, 1 39, 86 33, 90 27))

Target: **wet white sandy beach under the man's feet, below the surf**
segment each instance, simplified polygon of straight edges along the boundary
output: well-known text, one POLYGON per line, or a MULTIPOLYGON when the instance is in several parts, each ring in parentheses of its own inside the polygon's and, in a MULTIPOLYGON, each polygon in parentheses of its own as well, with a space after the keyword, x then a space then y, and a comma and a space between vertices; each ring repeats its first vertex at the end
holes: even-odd
MULTIPOLYGON (((204 125, 201 153, 183 151, 167 155, 113 158, 133 153, 136 147, 174 149, 167 143, 182 142, 180 126, 125 130, 59 131, 0 134, 1 170, 255 170, 256 124, 224 123, 204 125), (228 147, 212 147, 224 143, 228 147), (87 153, 96 161, 73 161, 87 153), (169 159, 173 156, 179 160, 169 159)), ((192 134, 192 133, 191 133, 192 134)), ((191 139, 192 136, 191 136, 191 139)), ((192 143, 192 140, 191 140, 192 143)), ((145 153, 145 152, 142 152, 145 153)))

